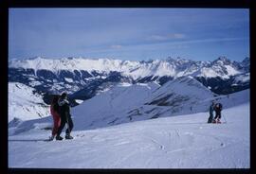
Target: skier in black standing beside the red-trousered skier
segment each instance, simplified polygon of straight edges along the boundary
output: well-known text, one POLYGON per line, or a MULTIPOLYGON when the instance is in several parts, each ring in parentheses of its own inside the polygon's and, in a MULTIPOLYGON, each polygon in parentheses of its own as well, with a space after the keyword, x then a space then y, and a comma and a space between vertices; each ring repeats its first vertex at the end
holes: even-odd
POLYGON ((63 93, 62 96, 58 100, 58 104, 60 106, 60 113, 61 113, 61 126, 59 127, 57 131, 56 140, 63 140, 63 137, 61 137, 62 130, 64 129, 65 123, 67 124, 67 129, 65 130, 65 139, 73 139, 73 137, 70 135, 71 130, 73 129, 73 121, 71 119, 70 114, 70 107, 69 102, 67 100, 67 94, 63 93))

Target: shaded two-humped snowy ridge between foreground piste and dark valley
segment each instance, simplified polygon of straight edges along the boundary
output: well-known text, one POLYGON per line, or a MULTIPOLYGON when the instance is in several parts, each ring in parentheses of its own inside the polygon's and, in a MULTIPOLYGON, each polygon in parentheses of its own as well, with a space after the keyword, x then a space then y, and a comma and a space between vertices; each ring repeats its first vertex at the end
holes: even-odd
POLYGON ((163 86, 120 85, 72 109, 81 129, 205 111, 214 94, 194 78, 176 78, 163 86), (198 104, 200 103, 200 104, 198 104), (197 107, 197 110, 191 109, 197 107))

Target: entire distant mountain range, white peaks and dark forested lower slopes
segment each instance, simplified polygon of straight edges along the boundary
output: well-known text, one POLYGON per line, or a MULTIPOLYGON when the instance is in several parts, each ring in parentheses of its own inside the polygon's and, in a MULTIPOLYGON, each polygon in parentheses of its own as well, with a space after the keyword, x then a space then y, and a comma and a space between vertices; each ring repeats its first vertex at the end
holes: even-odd
POLYGON ((9 81, 23 83, 49 96, 63 91, 76 99, 91 98, 105 88, 119 82, 131 84, 156 81, 160 85, 179 77, 192 76, 213 93, 225 95, 249 88, 249 58, 229 61, 220 57, 215 61, 184 59, 155 61, 120 61, 111 59, 44 59, 9 61, 9 81))

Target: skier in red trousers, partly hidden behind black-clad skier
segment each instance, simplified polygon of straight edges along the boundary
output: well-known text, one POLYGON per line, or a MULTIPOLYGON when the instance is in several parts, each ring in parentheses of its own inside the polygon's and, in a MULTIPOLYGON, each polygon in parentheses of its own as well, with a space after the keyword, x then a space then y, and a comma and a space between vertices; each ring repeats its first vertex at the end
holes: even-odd
POLYGON ((53 128, 51 131, 51 136, 49 137, 49 141, 55 138, 57 131, 61 125, 61 116, 59 113, 58 99, 59 96, 54 96, 50 104, 50 113, 53 117, 53 128))

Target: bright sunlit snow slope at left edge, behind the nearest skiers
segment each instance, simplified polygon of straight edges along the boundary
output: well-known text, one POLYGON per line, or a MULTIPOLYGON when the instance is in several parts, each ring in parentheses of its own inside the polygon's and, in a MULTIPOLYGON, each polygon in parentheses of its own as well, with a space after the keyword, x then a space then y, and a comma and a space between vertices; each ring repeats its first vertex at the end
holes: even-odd
POLYGON ((17 82, 9 82, 8 106, 9 122, 13 118, 28 120, 50 114, 42 96, 34 94, 33 88, 17 82))

